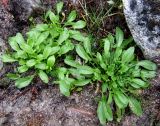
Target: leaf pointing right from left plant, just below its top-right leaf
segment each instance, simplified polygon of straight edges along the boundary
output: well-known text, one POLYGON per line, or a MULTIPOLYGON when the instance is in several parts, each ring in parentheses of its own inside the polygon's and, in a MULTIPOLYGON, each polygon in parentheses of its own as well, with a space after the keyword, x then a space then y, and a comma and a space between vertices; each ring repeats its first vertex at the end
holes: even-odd
POLYGON ((69 30, 70 33, 70 38, 73 38, 77 41, 80 42, 84 42, 85 41, 85 37, 83 36, 83 34, 79 31, 75 31, 75 30, 69 30))

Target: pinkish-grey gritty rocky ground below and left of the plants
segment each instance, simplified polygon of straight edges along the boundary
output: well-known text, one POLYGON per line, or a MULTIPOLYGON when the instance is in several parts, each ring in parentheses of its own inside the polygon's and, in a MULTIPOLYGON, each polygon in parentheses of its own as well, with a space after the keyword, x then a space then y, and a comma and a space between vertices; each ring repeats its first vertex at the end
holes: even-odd
MULTIPOLYGON (((54 2, 46 0, 44 4, 50 8, 54 2)), ((8 46, 9 36, 15 35, 16 32, 25 32, 29 27, 26 17, 30 15, 31 10, 25 13, 23 9, 19 9, 15 13, 13 5, 16 3, 16 0, 11 3, 8 0, 0 2, 1 53, 8 46)), ((17 9, 18 6, 21 4, 16 4, 17 9)), ((44 11, 39 4, 37 9, 44 11)), ((5 73, 11 71, 13 66, 3 66, 0 62, 0 126, 100 125, 96 116, 98 94, 94 92, 95 85, 85 87, 82 92, 75 92, 71 97, 62 96, 57 85, 44 85, 39 81, 23 90, 18 90, 12 81, 5 78, 5 73)), ((160 126, 159 81, 160 72, 157 72, 157 77, 151 81, 151 88, 140 91, 144 111, 141 117, 126 111, 127 115, 120 123, 114 121, 107 126, 160 126)))

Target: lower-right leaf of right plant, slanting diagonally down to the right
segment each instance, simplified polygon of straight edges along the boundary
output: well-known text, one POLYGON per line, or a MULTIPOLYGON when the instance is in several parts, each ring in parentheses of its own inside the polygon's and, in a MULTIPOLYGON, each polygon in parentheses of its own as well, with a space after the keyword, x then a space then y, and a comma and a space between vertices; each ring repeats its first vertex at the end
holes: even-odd
POLYGON ((133 98, 133 97, 129 98, 129 107, 133 111, 133 113, 136 114, 137 116, 141 116, 142 115, 141 104, 135 98, 133 98))

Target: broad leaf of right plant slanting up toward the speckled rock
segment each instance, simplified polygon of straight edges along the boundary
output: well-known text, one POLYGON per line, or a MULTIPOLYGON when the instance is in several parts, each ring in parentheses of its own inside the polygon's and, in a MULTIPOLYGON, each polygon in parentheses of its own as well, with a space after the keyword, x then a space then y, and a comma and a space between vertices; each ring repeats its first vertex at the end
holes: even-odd
POLYGON ((122 62, 130 62, 134 58, 134 47, 125 50, 122 55, 122 62))

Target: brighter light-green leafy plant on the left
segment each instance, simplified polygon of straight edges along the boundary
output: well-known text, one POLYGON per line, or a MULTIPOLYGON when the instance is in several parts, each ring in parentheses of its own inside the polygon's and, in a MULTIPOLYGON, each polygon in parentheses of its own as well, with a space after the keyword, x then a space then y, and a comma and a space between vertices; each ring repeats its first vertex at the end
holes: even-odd
POLYGON ((11 79, 16 80, 16 87, 26 87, 36 75, 44 83, 48 83, 48 75, 56 69, 58 57, 74 49, 74 40, 87 39, 78 31, 83 29, 86 23, 82 20, 75 21, 76 11, 72 11, 65 19, 61 14, 62 8, 63 2, 59 2, 56 5, 56 14, 49 10, 45 15, 47 23, 37 24, 26 33, 26 38, 21 33, 9 38, 13 52, 4 54, 2 60, 18 63, 16 74, 8 74, 11 79), (29 70, 34 70, 34 73, 23 77, 29 70))

